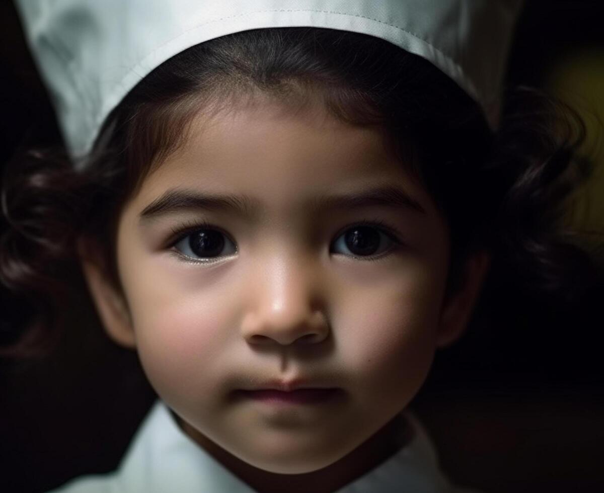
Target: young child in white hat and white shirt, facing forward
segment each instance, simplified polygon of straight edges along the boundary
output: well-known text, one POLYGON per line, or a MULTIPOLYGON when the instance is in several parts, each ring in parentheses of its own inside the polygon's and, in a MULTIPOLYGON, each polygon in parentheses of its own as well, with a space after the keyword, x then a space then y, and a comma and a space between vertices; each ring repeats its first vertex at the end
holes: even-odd
POLYGON ((2 281, 76 256, 161 399, 57 491, 461 491, 405 408, 489 282, 590 284, 587 173, 538 95, 500 118, 514 2, 374 3, 19 2, 70 155, 7 174, 2 281))

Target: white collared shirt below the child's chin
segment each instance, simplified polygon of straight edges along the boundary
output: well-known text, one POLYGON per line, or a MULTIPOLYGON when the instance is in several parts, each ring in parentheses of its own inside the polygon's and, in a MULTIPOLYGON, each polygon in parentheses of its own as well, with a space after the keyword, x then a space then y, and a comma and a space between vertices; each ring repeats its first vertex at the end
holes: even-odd
MULTIPOLYGON (((405 417, 413 438, 376 468, 335 493, 478 493, 455 488, 439 469, 434 447, 417 418, 405 417)), ((120 466, 82 476, 51 493, 256 493, 199 447, 157 401, 120 466)))

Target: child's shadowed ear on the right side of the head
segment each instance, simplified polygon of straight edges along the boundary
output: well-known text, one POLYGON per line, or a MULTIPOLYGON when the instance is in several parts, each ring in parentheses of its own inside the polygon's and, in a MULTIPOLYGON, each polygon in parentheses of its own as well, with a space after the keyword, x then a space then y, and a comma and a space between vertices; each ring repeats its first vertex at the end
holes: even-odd
POLYGON ((473 253, 467 259, 461 287, 445 301, 440 317, 437 346, 448 346, 465 331, 489 270, 490 259, 490 253, 486 250, 473 253))

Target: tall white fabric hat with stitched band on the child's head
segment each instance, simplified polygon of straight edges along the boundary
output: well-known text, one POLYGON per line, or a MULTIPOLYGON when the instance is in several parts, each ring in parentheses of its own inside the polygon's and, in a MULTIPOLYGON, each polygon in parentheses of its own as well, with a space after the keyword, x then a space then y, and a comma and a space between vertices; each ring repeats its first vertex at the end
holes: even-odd
POLYGON ((521 0, 16 0, 74 162, 145 75, 190 46, 268 27, 370 34, 422 56, 494 129, 521 0))

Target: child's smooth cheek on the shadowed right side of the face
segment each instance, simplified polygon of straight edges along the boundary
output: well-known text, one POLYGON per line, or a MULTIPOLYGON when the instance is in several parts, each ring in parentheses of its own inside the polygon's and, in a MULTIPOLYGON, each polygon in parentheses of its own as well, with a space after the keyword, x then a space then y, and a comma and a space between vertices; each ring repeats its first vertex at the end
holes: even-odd
POLYGON ((397 395, 406 403, 425 380, 440 303, 431 279, 393 279, 379 289, 352 293, 341 308, 347 366, 356 368, 357 384, 376 400, 397 395))

